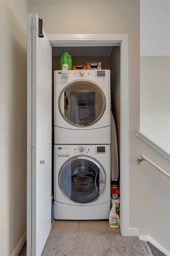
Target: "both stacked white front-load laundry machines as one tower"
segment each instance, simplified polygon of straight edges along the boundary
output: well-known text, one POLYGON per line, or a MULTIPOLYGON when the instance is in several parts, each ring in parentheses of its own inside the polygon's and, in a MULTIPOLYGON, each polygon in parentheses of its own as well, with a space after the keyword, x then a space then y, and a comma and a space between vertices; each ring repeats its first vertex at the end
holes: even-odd
POLYGON ((54 218, 108 219, 110 71, 55 71, 54 87, 54 218))

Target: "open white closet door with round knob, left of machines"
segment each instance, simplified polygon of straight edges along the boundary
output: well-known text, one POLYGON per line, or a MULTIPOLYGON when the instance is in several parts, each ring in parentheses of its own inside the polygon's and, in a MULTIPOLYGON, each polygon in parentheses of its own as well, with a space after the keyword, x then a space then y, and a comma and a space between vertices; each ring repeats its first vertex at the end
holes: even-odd
MULTIPOLYGON (((52 48, 28 15, 27 255, 40 256, 51 230, 52 48)), ((18 74, 19 75, 19 74, 18 74)))

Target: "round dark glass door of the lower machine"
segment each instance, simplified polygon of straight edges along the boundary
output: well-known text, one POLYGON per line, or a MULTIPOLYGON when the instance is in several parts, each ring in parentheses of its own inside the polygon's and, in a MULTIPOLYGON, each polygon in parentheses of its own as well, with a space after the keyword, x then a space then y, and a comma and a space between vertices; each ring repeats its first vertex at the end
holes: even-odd
POLYGON ((103 194, 105 184, 102 166, 90 157, 70 158, 60 169, 59 186, 71 201, 92 202, 103 194))

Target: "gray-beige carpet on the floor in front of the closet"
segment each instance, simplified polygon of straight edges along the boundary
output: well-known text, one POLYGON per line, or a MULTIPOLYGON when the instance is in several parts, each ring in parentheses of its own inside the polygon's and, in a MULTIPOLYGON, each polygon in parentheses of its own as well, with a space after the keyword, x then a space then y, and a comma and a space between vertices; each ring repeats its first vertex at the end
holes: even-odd
MULTIPOLYGON (((26 255, 25 244, 19 256, 26 255)), ((118 232, 51 231, 42 256, 53 255, 147 256, 159 254, 152 254, 148 244, 140 241, 138 237, 122 237, 118 232)))

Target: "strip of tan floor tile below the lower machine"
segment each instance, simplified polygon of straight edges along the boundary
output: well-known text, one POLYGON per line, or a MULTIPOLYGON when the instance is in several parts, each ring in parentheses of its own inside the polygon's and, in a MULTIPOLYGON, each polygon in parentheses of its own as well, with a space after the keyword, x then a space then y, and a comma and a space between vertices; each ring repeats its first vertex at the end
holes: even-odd
POLYGON ((54 220, 52 230, 109 231, 120 232, 119 228, 111 228, 107 220, 62 221, 54 220))

